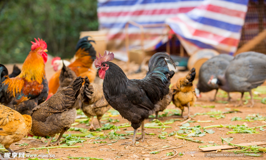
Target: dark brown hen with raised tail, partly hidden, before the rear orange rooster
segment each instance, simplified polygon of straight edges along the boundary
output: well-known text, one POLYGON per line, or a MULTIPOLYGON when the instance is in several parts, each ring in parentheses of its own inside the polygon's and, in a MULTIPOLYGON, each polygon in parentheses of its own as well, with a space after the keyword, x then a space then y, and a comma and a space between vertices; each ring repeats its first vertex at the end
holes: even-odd
POLYGON ((77 78, 76 73, 71 70, 69 67, 66 67, 63 63, 63 67, 61 69, 61 73, 59 76, 59 87, 57 89, 60 90, 63 87, 69 86, 75 79, 77 78))

